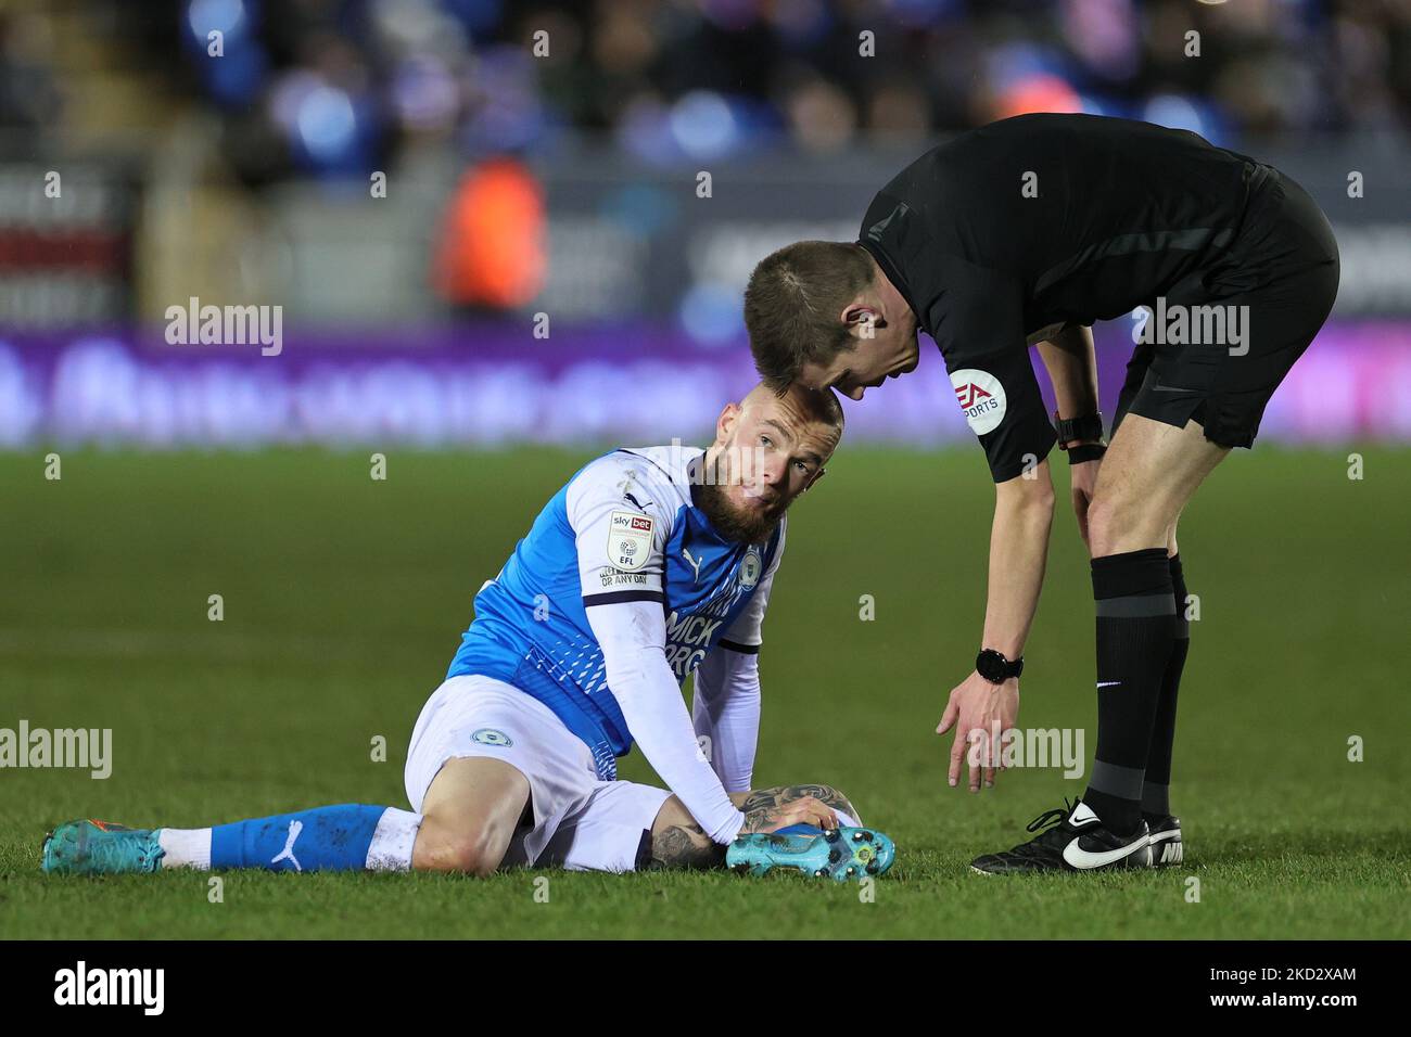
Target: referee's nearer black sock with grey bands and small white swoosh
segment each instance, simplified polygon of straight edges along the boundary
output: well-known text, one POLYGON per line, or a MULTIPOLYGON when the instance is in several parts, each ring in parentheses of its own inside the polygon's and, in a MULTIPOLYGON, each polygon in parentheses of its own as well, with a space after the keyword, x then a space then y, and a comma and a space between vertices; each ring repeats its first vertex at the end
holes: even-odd
POLYGON ((1164 547, 1092 560, 1098 612, 1098 749, 1082 801, 1126 835, 1141 823, 1141 786, 1161 680, 1175 639, 1164 547))

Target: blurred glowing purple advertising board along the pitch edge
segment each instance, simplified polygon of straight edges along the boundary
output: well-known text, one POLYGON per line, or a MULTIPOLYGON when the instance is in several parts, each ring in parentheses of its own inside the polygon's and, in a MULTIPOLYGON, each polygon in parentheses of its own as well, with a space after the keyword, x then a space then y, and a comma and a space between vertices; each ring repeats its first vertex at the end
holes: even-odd
MULTIPOLYGON (((1110 416, 1132 343, 1113 322, 1099 326, 1098 344, 1110 416)), ((291 332, 265 353, 169 346, 161 329, 0 336, 0 447, 698 442, 721 405, 753 384, 744 341, 706 347, 639 325, 549 339, 508 323, 291 332)), ((971 437, 927 339, 914 374, 847 401, 847 411, 849 442, 971 437)), ((1328 325, 1276 394, 1261 439, 1411 442, 1411 323, 1328 325)))

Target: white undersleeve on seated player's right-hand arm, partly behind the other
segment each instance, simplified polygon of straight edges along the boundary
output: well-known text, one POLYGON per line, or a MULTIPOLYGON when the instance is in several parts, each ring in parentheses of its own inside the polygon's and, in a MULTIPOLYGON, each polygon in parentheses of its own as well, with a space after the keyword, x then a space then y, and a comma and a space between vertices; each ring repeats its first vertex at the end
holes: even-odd
POLYGON ((759 655, 715 646, 696 667, 691 720, 727 792, 749 792, 759 742, 759 655))

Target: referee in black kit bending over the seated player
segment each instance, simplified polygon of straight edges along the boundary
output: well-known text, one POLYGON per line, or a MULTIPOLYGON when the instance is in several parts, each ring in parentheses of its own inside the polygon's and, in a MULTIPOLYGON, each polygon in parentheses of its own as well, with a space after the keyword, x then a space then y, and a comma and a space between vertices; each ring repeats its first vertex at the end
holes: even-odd
POLYGON ((1270 396, 1338 293, 1326 217, 1288 176, 1201 137, 1095 116, 1007 119, 933 148, 868 207, 856 243, 799 241, 745 292, 751 348, 776 391, 852 399, 940 346, 995 478, 989 594, 975 670, 950 696, 950 783, 993 783, 1016 725, 1024 641, 1043 584, 1054 491, 1068 456, 1092 557, 1098 745, 1075 806, 1026 844, 974 861, 989 873, 1181 861, 1168 786, 1188 649, 1181 509, 1232 447, 1250 447, 1270 396), (1146 306, 1103 444, 1091 325, 1146 306), (1037 346, 1058 411, 1029 360, 1037 346))

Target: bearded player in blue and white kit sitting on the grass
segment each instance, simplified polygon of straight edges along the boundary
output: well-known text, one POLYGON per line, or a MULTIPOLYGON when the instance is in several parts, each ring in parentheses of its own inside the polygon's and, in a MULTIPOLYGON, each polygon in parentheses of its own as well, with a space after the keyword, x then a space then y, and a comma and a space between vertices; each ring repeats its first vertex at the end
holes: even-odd
POLYGON ((340 804, 186 830, 78 820, 45 839, 42 868, 488 875, 728 862, 880 875, 892 842, 835 789, 751 790, 785 512, 841 435, 831 392, 756 387, 724 408, 706 450, 614 450, 570 478, 476 595, 412 732, 411 810, 340 804), (665 789, 617 779, 634 744, 665 789))

